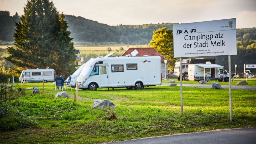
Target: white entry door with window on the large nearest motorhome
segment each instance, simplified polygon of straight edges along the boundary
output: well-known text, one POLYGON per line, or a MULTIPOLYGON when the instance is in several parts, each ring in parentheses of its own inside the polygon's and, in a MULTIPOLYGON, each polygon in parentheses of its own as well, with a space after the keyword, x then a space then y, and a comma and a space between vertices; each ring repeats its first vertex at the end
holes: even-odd
POLYGON ((101 87, 109 87, 108 66, 107 65, 99 66, 99 75, 100 75, 101 87))

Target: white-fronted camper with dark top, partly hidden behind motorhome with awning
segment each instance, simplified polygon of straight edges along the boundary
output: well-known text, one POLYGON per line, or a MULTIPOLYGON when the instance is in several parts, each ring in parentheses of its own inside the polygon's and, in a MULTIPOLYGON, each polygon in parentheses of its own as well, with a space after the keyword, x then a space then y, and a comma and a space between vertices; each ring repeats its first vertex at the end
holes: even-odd
MULTIPOLYGON (((188 76, 187 76, 187 74, 188 74, 188 64, 206 63, 206 62, 210 62, 210 63, 214 64, 215 59, 204 59, 204 58, 183 59, 181 61, 181 64, 182 64, 182 68, 181 68, 182 79, 184 81, 188 81, 188 76)), ((180 78, 180 60, 177 60, 175 62, 174 70, 173 70, 173 76, 177 77, 178 81, 181 80, 181 78, 180 78)))

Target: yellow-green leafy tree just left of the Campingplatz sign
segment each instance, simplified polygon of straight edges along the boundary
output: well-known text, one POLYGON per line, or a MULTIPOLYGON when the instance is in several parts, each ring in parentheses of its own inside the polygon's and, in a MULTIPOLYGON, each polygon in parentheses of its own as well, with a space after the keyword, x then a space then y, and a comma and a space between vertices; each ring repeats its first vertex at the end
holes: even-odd
POLYGON ((153 31, 152 40, 149 45, 153 46, 170 61, 170 63, 168 63, 168 69, 171 73, 175 62, 177 61, 177 58, 173 57, 173 29, 166 29, 166 27, 162 27, 153 31))

